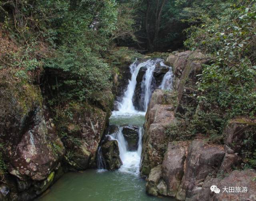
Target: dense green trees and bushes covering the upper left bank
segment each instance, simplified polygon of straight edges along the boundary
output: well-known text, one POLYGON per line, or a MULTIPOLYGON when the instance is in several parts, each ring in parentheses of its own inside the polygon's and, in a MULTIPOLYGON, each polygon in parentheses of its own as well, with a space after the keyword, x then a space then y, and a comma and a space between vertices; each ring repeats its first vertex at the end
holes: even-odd
POLYGON ((112 70, 103 55, 113 40, 133 34, 134 20, 127 4, 2 0, 0 10, 4 11, 0 31, 7 38, 0 47, 4 52, 0 68, 15 69, 14 76, 31 82, 46 70, 45 92, 52 106, 89 100, 93 92, 111 88, 112 70))

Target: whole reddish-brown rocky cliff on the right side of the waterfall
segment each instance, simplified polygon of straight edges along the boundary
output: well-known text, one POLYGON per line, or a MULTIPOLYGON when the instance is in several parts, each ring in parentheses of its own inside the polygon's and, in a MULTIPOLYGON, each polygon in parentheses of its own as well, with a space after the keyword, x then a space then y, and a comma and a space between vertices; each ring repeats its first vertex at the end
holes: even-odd
POLYGON ((174 89, 154 92, 144 124, 140 170, 148 176, 146 191, 150 195, 180 201, 231 201, 253 199, 256 194, 256 171, 241 168, 243 159, 255 148, 246 143, 256 136, 254 122, 245 118, 230 120, 222 133, 222 144, 207 140, 204 133, 174 136, 172 130, 166 132, 170 125, 186 129, 187 122, 182 119, 185 113, 190 111, 193 117, 202 109, 193 98, 198 94, 196 75, 200 74, 201 65, 209 61, 197 51, 171 54, 166 61, 174 71, 174 89), (220 194, 211 192, 212 185, 221 190, 220 194), (222 193, 225 186, 249 185, 247 194, 222 193))

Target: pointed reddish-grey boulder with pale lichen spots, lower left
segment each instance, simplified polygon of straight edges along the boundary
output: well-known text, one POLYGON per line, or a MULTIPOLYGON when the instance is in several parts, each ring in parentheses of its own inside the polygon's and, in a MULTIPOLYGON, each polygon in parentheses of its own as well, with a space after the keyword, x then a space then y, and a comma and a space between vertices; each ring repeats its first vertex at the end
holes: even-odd
POLYGON ((10 157, 8 171, 21 180, 29 177, 40 181, 56 167, 64 155, 64 146, 43 109, 36 109, 31 123, 10 157))

